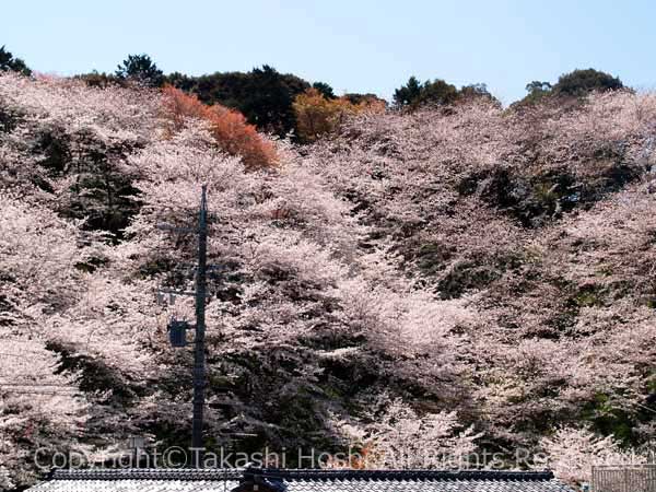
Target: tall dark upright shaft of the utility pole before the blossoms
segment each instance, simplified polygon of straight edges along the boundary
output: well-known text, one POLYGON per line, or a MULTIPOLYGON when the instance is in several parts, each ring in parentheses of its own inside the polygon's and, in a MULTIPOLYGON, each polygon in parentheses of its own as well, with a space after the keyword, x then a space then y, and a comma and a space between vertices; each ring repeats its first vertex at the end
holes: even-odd
POLYGON ((208 254, 208 206, 207 186, 202 186, 198 218, 198 270, 196 272, 196 339, 194 348, 194 420, 191 423, 191 447, 194 467, 202 467, 202 420, 204 410, 204 311, 208 254))

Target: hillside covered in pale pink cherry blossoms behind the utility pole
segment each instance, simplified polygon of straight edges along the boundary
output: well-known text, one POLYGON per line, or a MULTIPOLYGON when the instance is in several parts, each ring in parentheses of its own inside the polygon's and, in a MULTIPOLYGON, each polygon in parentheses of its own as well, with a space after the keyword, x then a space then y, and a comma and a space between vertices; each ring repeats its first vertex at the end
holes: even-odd
POLYGON ((654 437, 656 96, 340 115, 300 145, 173 87, 0 75, 3 487, 43 446, 187 445, 194 306, 155 292, 195 238, 156 224, 201 184, 210 448, 522 448, 582 480, 558 460, 654 437))

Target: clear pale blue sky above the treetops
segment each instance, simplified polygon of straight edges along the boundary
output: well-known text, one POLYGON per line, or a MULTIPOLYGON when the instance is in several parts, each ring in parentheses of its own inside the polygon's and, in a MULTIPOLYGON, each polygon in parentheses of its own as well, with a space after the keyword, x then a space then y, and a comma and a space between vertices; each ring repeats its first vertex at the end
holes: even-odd
POLYGON ((165 72, 268 63, 337 93, 389 98, 411 74, 485 82, 508 104, 531 80, 596 68, 656 86, 647 0, 0 0, 0 45, 40 72, 114 71, 147 52, 165 72))

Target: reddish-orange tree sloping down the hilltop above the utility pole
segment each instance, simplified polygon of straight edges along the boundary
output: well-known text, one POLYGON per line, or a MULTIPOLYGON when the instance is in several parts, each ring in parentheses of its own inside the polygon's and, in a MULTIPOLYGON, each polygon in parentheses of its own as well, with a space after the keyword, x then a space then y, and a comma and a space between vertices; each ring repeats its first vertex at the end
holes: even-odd
POLYGON ((247 168, 270 167, 276 164, 273 144, 259 134, 254 125, 246 122, 239 112, 214 104, 208 106, 196 95, 185 94, 167 85, 163 89, 163 116, 178 130, 188 118, 209 122, 216 144, 226 153, 242 157, 247 168))

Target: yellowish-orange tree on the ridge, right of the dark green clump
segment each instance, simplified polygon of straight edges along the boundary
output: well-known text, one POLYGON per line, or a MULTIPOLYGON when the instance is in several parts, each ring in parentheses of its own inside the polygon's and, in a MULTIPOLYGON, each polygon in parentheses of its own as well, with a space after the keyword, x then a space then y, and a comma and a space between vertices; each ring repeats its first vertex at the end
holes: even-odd
POLYGON ((298 137, 303 141, 314 142, 321 134, 337 131, 348 116, 383 113, 385 103, 372 98, 353 104, 344 96, 329 99, 311 87, 296 96, 293 107, 298 137))

